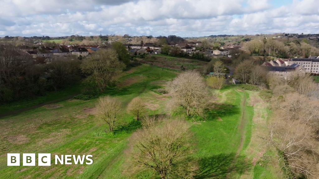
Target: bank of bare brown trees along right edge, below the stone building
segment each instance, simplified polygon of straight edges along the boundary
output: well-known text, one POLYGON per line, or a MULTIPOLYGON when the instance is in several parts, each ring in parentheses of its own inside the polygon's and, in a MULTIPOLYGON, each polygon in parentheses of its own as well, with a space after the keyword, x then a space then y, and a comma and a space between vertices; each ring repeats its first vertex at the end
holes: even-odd
POLYGON ((290 178, 319 176, 319 100, 311 76, 295 74, 288 81, 271 79, 272 109, 267 141, 275 147, 290 178), (316 95, 314 95, 314 93, 316 95))

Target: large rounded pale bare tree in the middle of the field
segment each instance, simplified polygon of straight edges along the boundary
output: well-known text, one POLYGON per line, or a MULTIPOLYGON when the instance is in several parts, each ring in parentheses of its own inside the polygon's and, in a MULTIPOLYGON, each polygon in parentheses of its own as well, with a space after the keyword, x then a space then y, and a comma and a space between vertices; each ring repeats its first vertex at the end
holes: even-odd
POLYGON ((195 71, 178 75, 169 86, 173 111, 181 106, 187 116, 202 115, 207 100, 203 77, 195 71))

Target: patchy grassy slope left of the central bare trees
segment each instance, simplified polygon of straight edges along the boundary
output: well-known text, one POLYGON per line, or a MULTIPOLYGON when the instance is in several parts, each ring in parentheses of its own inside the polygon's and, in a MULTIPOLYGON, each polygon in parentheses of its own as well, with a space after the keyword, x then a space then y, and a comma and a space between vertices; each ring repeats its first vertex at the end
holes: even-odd
MULTIPOLYGON (((123 101, 123 111, 130 100, 138 95, 149 101, 166 98, 150 91, 159 88, 175 73, 143 65, 127 72, 122 80, 142 75, 143 81, 108 94, 123 101), (155 83, 156 82, 156 83, 155 83)), ((105 133, 106 125, 97 121, 84 109, 93 108, 95 100, 67 100, 56 104, 58 108, 43 106, 0 120, 1 148, 0 178, 97 178, 104 171, 114 171, 114 161, 121 155, 131 132, 139 127, 130 115, 125 115, 122 127, 115 135, 105 133), (93 154, 92 165, 51 165, 50 167, 7 167, 6 153, 93 154)), ((163 106, 149 110, 150 114, 163 112, 163 106)), ((54 159, 51 159, 54 162, 54 159)), ((22 162, 22 161, 21 161, 22 162)), ((118 171, 116 171, 118 173, 118 171)), ((108 177, 107 177, 108 178, 108 177)))

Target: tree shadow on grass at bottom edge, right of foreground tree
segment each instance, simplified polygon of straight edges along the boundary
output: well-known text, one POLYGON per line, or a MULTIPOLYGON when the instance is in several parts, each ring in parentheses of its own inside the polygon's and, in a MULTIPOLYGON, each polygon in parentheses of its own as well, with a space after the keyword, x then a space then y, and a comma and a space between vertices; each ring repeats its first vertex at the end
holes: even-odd
POLYGON ((238 156, 234 160, 235 154, 219 154, 211 157, 205 157, 198 161, 200 173, 195 177, 197 179, 226 178, 228 174, 243 174, 251 168, 251 164, 245 161, 244 156, 238 156), (235 163, 234 163, 235 161, 235 163))

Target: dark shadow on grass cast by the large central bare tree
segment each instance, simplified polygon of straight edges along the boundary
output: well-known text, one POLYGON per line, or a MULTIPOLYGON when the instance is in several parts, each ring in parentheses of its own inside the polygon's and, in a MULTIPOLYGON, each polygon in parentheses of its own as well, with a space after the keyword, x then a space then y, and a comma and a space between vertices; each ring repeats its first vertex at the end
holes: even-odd
POLYGON ((211 110, 207 111, 207 120, 215 120, 224 116, 232 116, 234 114, 239 114, 240 109, 231 104, 213 104, 211 110))

